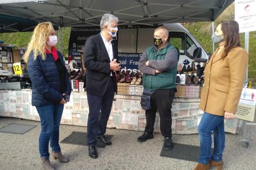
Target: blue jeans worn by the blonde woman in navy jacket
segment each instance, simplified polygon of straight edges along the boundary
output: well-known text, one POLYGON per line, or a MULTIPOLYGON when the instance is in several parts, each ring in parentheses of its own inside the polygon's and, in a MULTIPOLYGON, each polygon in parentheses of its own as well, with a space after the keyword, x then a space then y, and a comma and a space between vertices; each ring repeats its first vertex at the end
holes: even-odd
POLYGON ((53 152, 61 152, 61 147, 59 147, 59 123, 61 123, 63 108, 63 104, 36 107, 41 120, 39 152, 42 158, 49 158, 49 142, 53 152))

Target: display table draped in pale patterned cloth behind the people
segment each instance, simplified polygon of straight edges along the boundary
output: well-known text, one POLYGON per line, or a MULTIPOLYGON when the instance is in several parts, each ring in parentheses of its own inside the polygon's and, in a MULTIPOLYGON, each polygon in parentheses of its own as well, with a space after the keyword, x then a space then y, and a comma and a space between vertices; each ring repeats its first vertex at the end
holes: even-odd
MULTIPOLYGON (((31 104, 32 90, 0 91, 0 116, 40 121, 36 108, 31 104)), ((198 109, 199 98, 174 98, 173 134, 196 134, 203 112, 198 109)), ((86 92, 72 92, 70 102, 65 104, 61 124, 87 126, 88 103, 86 92)), ((225 131, 236 133, 238 119, 225 119, 225 131)), ((145 110, 140 107, 139 95, 115 95, 109 128, 144 131, 145 110)), ((155 132, 160 132, 160 116, 156 114, 155 132)))

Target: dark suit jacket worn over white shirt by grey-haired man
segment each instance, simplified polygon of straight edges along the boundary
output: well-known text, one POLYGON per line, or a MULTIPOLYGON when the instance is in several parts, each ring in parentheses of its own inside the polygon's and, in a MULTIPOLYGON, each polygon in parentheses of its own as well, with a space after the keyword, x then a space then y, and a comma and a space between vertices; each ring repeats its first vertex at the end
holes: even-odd
MULTIPOLYGON (((116 59, 118 62, 116 41, 113 40, 111 43, 113 47, 113 59, 116 59)), ((110 71, 112 72, 115 91, 117 92, 116 75, 110 70, 108 52, 106 51, 100 33, 90 36, 90 38, 87 39, 83 57, 85 57, 87 92, 93 95, 103 96, 106 90, 108 90, 110 71)))

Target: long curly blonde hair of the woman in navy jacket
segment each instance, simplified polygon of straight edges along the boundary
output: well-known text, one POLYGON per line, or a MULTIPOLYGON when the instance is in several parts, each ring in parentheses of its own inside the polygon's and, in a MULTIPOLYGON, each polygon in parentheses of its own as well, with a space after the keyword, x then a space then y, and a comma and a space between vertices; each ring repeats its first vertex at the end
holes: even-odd
POLYGON ((41 55, 41 58, 45 60, 45 45, 46 39, 49 36, 49 33, 53 30, 53 25, 51 22, 43 22, 36 25, 35 30, 33 32, 33 36, 30 39, 28 44, 27 52, 23 55, 24 61, 27 63, 29 54, 33 51, 34 60, 41 55))

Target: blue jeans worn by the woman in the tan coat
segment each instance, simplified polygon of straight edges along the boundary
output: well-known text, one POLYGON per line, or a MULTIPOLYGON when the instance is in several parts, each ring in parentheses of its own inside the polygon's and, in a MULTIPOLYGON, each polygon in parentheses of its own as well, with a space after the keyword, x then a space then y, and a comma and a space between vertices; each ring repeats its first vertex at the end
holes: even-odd
POLYGON ((222 161, 222 153, 225 147, 224 116, 203 113, 198 126, 200 137, 200 156, 198 163, 208 164, 213 161, 222 161), (211 155, 211 132, 214 132, 214 150, 211 155))

